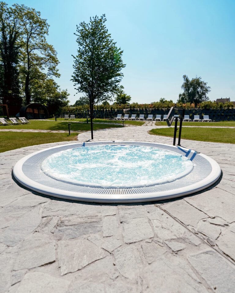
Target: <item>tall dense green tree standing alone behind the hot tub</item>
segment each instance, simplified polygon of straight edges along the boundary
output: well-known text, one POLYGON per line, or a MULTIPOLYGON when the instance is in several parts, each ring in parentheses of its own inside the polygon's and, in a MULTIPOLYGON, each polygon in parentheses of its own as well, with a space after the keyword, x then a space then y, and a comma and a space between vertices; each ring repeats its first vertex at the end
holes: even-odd
MULTIPOLYGON (((81 22, 75 35, 78 44, 72 81, 77 92, 83 92, 94 103, 111 100, 119 90, 125 64, 123 51, 116 46, 105 25, 106 17, 95 16, 81 22)), ((92 110, 92 109, 91 109, 92 110)))

